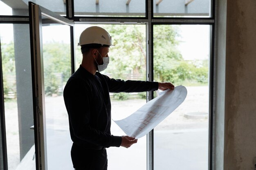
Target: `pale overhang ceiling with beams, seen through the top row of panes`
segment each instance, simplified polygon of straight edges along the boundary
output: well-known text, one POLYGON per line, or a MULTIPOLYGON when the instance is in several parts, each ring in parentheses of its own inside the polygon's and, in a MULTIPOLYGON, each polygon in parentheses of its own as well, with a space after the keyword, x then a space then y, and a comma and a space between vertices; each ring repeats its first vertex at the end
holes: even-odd
MULTIPOLYGON (((27 10, 32 1, 64 14, 66 0, 1 0, 13 10, 27 10)), ((74 0, 75 15, 145 15, 145 0, 74 0)), ((210 0, 153 0, 154 15, 209 15, 210 0)))

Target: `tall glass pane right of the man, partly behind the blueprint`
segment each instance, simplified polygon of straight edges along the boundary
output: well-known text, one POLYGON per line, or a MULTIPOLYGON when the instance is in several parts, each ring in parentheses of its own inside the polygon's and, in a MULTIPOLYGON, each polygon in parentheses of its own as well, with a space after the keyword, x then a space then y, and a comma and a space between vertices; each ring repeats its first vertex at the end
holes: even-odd
POLYGON ((208 170, 209 25, 155 25, 153 38, 155 81, 188 91, 154 128, 154 169, 208 170))

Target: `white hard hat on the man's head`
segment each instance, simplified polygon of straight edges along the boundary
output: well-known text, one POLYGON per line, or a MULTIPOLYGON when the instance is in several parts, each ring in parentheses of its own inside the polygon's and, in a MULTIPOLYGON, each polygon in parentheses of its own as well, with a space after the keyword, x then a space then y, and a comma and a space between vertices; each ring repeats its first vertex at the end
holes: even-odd
POLYGON ((85 44, 101 44, 111 46, 111 36, 105 29, 99 26, 91 26, 85 29, 80 35, 78 45, 81 46, 85 44))

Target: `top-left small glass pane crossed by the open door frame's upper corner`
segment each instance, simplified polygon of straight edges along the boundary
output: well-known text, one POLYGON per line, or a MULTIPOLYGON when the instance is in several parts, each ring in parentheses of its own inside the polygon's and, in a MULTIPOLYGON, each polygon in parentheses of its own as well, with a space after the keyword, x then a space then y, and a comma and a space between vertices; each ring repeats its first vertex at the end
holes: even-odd
MULTIPOLYGON (((42 7, 45 7, 60 15, 66 15, 66 1, 65 0, 29 0, 42 7)), ((0 15, 29 15, 29 2, 28 0, 1 0, 0 9, 2 6, 8 5, 8 11, 0 10, 0 15), (4 5, 6 4, 6 5, 4 5), (9 12, 11 9, 12 13, 9 12), (3 13, 3 14, 2 14, 3 13)))

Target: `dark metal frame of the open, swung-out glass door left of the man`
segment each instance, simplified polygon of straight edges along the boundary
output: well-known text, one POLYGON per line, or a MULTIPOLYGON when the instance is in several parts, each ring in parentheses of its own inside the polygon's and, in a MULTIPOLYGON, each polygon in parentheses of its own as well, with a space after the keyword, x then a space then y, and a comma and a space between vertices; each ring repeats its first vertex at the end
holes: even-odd
MULTIPOLYGON (((45 101, 43 84, 43 57, 42 49, 42 16, 45 16, 58 23, 70 26, 70 37, 73 35, 74 22, 63 18, 56 13, 49 11, 33 2, 29 2, 29 23, 30 26, 30 43, 31 43, 31 68, 32 68, 32 91, 33 91, 33 108, 34 108, 34 133, 35 133, 35 151, 36 151, 36 170, 47 170, 47 147, 46 147, 46 126, 45 126, 45 101), (34 14, 34 15, 32 15, 34 14), (38 84, 38 86, 36 86, 38 84), (42 97, 43 96, 43 97, 42 97)), ((71 53, 74 52, 71 40, 71 53)), ((72 58, 74 58, 71 55, 72 58)), ((71 60, 72 61, 72 60, 71 60)), ((71 62, 72 68, 72 62, 71 62)))

